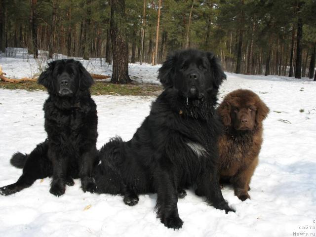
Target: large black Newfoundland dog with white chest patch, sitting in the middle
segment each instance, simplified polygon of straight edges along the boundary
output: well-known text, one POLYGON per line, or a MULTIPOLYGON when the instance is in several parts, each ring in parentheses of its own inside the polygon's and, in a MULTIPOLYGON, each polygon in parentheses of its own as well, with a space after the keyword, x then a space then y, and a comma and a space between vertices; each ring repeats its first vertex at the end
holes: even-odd
POLYGON ((100 151, 98 193, 121 194, 135 205, 138 194, 157 193, 156 210, 168 228, 183 221, 177 208, 192 186, 218 209, 233 211, 219 186, 217 140, 222 126, 214 106, 226 75, 212 53, 176 51, 159 69, 163 92, 133 138, 113 138, 100 151))

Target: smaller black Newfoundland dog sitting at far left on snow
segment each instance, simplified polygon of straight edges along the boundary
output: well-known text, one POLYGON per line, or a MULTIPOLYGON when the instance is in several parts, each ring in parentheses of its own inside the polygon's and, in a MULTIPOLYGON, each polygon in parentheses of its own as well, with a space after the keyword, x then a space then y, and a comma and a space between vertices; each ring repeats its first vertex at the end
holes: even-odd
POLYGON ((55 196, 65 193, 66 184, 74 185, 74 178, 81 179, 84 192, 94 192, 98 117, 89 92, 93 79, 79 61, 67 59, 49 63, 38 82, 49 93, 43 107, 47 139, 29 155, 13 155, 11 164, 23 168, 23 174, 0 194, 14 194, 48 176, 55 196))

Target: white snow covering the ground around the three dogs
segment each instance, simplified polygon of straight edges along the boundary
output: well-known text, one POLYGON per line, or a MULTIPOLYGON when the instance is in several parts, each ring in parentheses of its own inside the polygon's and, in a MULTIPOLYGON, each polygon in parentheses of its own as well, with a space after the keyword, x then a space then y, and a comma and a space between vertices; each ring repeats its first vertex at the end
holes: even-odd
MULTIPOLYGON (((18 57, 0 58, 10 77, 29 75, 30 67, 24 67, 28 62, 23 62, 18 57)), ((130 75, 156 81, 158 67, 133 64, 130 75)), ((94 70, 104 73, 110 68, 98 64, 94 70)), ((285 237, 303 235, 304 231, 315 236, 316 83, 227 73, 220 99, 237 88, 256 92, 271 112, 264 121, 260 162, 250 184, 252 199, 242 202, 231 187, 222 190, 236 213, 214 209, 187 190, 187 197, 178 201, 183 228, 173 231, 156 219, 156 194, 141 195, 139 203, 129 207, 119 196, 83 193, 75 180, 65 195, 55 197, 48 192, 50 179, 45 178, 12 196, 0 196, 0 236, 285 237), (84 210, 87 205, 91 207, 84 210)), ((0 186, 15 182, 22 173, 10 165, 11 155, 29 153, 45 139, 45 98, 46 92, 0 89, 0 186)), ((115 135, 130 139, 155 97, 103 95, 93 99, 99 117, 97 147, 101 148, 115 135)))

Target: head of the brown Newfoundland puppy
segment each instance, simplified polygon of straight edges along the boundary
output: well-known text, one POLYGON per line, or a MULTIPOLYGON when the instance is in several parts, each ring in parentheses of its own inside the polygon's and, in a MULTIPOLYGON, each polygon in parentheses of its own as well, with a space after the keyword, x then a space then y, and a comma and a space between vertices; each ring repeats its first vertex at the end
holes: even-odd
POLYGON ((225 96, 217 111, 225 126, 233 126, 236 130, 252 130, 262 124, 269 108, 256 93, 238 89, 225 96))

